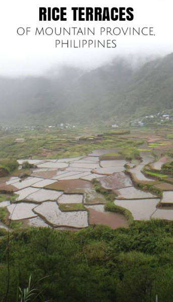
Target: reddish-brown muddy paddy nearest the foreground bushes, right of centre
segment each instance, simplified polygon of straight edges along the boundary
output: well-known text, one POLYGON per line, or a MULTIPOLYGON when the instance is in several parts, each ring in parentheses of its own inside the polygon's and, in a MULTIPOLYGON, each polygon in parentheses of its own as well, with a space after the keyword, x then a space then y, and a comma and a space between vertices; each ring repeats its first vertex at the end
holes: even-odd
POLYGON ((129 223, 127 219, 120 214, 111 212, 100 212, 89 208, 89 223, 90 224, 104 224, 110 226, 112 229, 117 229, 122 226, 128 228, 129 223))

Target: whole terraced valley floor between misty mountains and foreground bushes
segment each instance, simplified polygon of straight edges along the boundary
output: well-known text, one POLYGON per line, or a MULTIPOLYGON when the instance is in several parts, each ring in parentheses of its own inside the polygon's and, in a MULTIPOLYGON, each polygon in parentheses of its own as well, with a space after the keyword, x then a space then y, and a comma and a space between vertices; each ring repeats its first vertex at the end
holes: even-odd
POLYGON ((1 228, 8 229, 9 221, 13 229, 77 231, 173 220, 171 126, 44 131, 2 129, 1 228))

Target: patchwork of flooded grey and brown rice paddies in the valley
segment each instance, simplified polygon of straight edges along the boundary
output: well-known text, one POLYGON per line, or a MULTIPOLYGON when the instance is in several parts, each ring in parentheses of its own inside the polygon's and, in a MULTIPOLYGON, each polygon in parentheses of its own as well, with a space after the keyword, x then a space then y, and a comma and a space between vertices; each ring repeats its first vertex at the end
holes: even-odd
MULTIPOLYGON (((152 184, 154 180, 144 176, 141 170, 148 164, 159 170, 165 158, 154 163, 150 153, 141 152, 141 161, 128 162, 121 157, 102 160, 103 155, 117 152, 117 149, 100 149, 78 158, 28 160, 36 165, 31 176, 0 179, 1 190, 17 194, 11 202, 0 202, 0 207, 7 208, 12 220, 33 226, 82 229, 89 224, 105 224, 113 229, 127 228, 129 224, 123 215, 104 210, 107 200, 95 191, 92 183, 92 180, 97 180, 102 188, 116 193, 114 204, 128 209, 135 220, 151 217, 173 220, 171 209, 157 208, 160 199, 156 195, 135 188, 133 183, 134 179, 139 183, 152 184), (125 173, 126 164, 128 173, 125 173), (82 210, 76 210, 80 205, 82 210), (69 206, 68 210, 63 210, 65 206, 69 206)), ((22 164, 24 160, 18 162, 22 164)), ((160 182, 155 184, 155 188, 163 190, 161 203, 170 206, 173 203, 173 184, 160 182)))

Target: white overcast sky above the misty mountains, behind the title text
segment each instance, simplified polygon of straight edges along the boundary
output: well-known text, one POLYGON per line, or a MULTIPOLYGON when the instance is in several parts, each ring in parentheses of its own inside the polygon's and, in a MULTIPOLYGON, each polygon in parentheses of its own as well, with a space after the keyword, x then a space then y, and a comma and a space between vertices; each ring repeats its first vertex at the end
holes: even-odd
POLYGON ((173 3, 172 0, 6 0, 1 3, 0 11, 0 74, 30 75, 41 74, 51 66, 70 64, 78 67, 93 68, 119 55, 164 55, 173 51, 173 3), (39 21, 39 7, 67 7, 68 21, 39 21), (73 22, 71 7, 132 7, 133 21, 73 22), (31 27, 28 36, 17 35, 19 27, 31 27), (155 36, 35 36, 38 27, 154 27, 155 36), (55 48, 55 40, 72 39, 116 39, 116 48, 55 48))

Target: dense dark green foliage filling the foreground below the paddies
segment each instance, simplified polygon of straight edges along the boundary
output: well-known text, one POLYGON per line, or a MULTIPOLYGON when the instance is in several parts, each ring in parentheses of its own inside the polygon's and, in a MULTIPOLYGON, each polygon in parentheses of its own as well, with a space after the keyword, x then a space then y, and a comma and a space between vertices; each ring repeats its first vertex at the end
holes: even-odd
POLYGON ((161 220, 117 230, 93 225, 77 233, 33 228, 14 231, 9 244, 1 230, 0 300, 9 251, 9 302, 31 274, 45 300, 54 302, 155 302, 156 294, 159 302, 171 302, 172 236, 173 224, 161 220))

